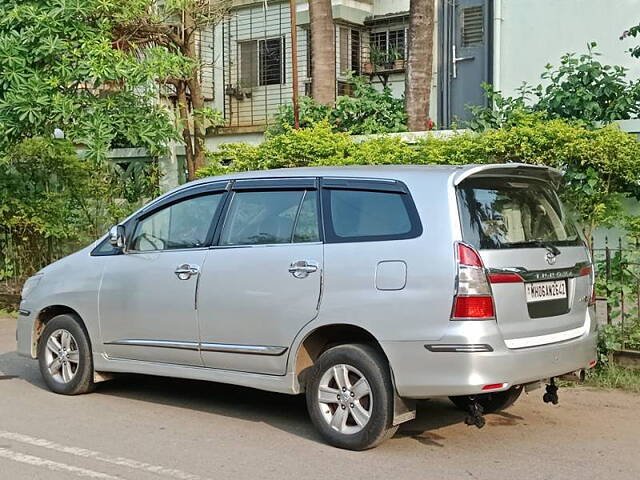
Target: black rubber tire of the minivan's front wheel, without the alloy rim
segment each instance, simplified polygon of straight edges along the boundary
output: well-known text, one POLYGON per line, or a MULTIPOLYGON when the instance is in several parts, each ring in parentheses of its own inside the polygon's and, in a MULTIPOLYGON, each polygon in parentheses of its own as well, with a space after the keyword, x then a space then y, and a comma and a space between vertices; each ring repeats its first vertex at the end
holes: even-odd
MULTIPOLYGON (((55 356, 53 358, 55 358, 55 356)), ((78 317, 69 314, 58 315, 47 323, 38 343, 38 364, 44 382, 47 384, 47 387, 55 393, 62 395, 80 395, 93 390, 91 344, 89 343, 89 335, 78 317), (72 357, 67 357, 65 352, 65 360, 70 365, 75 365, 75 370, 73 370, 73 366, 70 367, 73 370, 73 376, 69 381, 56 378, 56 376, 49 371, 48 360, 52 358, 52 354, 47 354, 47 342, 49 342, 50 337, 61 331, 67 331, 72 335, 72 347, 69 350, 76 351, 77 347, 77 356, 73 357, 74 360, 77 359, 77 362, 72 362, 72 357)), ((59 375, 62 376, 62 368, 60 372, 59 375)))

